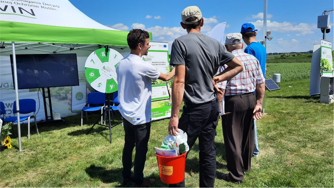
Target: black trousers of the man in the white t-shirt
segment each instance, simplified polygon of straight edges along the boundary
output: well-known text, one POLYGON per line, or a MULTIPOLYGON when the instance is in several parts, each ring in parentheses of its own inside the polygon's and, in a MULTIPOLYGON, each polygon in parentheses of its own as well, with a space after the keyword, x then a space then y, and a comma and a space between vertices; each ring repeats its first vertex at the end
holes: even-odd
POLYGON ((146 161, 147 144, 150 138, 151 122, 133 125, 123 118, 123 125, 125 131, 124 148, 123 148, 123 179, 131 177, 132 168, 132 152, 136 146, 135 162, 134 162, 134 174, 133 181, 136 184, 142 184, 144 180, 144 166, 146 161))

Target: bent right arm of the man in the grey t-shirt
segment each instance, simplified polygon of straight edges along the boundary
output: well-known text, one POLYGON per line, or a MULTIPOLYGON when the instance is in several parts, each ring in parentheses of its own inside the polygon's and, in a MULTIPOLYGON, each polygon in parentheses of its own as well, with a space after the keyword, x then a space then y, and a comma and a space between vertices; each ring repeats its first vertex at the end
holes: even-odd
MULTIPOLYGON (((218 75, 213 77, 214 82, 215 81, 221 82, 221 81, 231 79, 243 70, 243 66, 241 62, 236 57, 234 57, 232 61, 226 63, 226 65, 228 67, 225 68, 224 71, 220 72, 218 75)), ((217 85, 214 84, 214 88, 218 93, 220 93, 220 90, 218 89, 217 85)))

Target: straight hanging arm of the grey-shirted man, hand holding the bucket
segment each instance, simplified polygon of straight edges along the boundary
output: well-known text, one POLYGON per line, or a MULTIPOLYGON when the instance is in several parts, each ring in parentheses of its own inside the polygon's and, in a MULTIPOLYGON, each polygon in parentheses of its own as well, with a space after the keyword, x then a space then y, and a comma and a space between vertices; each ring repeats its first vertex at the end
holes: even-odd
POLYGON ((177 127, 179 124, 179 113, 184 94, 185 73, 185 65, 175 66, 175 77, 172 85, 172 115, 168 125, 168 134, 172 136, 177 136, 176 132, 180 132, 177 127))

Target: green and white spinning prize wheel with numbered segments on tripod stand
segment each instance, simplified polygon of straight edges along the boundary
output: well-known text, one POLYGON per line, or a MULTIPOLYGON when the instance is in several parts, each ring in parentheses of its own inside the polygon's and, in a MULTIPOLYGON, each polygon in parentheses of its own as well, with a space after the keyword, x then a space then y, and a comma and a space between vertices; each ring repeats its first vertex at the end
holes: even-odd
POLYGON ((85 75, 88 83, 103 93, 117 91, 116 66, 123 56, 111 48, 100 48, 88 56, 85 64, 85 75))

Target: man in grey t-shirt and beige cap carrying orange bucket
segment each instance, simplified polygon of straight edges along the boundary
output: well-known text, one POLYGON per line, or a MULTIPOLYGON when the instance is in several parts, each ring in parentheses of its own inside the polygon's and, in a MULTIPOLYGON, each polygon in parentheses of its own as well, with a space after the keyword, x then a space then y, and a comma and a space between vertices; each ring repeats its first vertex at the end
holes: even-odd
MULTIPOLYGON (((216 172, 214 137, 219 114, 216 95, 218 87, 215 81, 230 79, 241 72, 243 67, 222 44, 200 32, 204 19, 197 6, 185 8, 181 17, 181 26, 188 34, 175 39, 172 45, 170 65, 175 65, 175 78, 172 85, 172 116, 168 133, 176 136, 178 128, 185 131, 189 149, 198 138, 199 187, 213 187, 216 172), (213 75, 219 66, 224 64, 228 67, 213 81, 213 75), (179 120, 182 99, 185 105, 179 120)), ((184 180, 170 185, 184 186, 184 180)))

